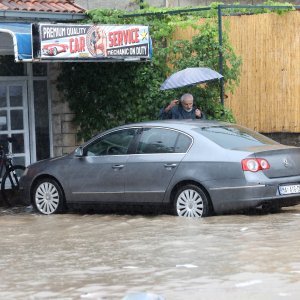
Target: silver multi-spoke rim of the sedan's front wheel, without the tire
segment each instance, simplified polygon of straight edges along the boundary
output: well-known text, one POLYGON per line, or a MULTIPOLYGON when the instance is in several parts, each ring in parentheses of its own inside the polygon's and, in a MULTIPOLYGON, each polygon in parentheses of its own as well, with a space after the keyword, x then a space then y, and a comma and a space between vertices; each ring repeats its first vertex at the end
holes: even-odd
POLYGON ((59 205, 57 188, 50 182, 39 185, 35 192, 35 203, 41 213, 45 215, 54 213, 59 205))

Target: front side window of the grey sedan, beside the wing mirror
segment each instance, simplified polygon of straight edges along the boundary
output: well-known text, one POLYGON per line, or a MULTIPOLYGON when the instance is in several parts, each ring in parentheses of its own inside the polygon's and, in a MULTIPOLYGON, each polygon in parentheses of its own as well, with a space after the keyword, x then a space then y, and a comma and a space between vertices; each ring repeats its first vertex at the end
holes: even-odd
POLYGON ((86 156, 127 154, 137 129, 123 129, 100 137, 84 149, 86 156))

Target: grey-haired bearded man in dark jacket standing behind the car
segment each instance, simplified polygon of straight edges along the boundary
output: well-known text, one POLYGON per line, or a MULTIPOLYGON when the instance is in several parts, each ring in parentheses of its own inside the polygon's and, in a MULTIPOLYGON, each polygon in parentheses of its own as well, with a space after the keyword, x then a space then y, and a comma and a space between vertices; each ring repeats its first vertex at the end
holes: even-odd
POLYGON ((159 119, 205 119, 204 113, 194 107, 192 94, 183 94, 179 100, 172 100, 168 106, 159 112, 159 119))

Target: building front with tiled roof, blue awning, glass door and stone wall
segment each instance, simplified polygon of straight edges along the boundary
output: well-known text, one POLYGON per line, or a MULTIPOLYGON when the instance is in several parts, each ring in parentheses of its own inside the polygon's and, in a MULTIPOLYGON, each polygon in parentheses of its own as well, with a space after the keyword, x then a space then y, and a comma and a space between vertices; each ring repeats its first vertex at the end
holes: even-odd
POLYGON ((56 88, 60 63, 32 61, 25 29, 85 17, 72 1, 0 1, 0 144, 15 164, 61 155, 78 144, 73 114, 56 88))

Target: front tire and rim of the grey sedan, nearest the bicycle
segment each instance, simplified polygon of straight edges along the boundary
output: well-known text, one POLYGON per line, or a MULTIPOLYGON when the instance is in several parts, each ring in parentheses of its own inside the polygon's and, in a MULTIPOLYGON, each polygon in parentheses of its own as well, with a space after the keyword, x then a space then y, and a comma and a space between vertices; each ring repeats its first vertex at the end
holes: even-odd
POLYGON ((33 189, 32 204, 43 215, 63 212, 65 199, 62 188, 54 179, 43 178, 39 180, 33 189))

